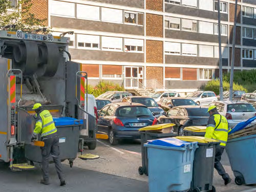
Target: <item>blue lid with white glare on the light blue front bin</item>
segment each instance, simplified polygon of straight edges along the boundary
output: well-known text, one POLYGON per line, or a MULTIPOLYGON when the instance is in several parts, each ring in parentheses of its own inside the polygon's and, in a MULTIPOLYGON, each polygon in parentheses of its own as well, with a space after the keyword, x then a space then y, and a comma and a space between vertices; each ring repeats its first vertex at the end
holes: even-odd
POLYGON ((183 147, 187 141, 182 141, 176 138, 163 138, 163 139, 155 139, 149 140, 148 144, 151 145, 160 145, 160 146, 171 146, 171 147, 183 147))

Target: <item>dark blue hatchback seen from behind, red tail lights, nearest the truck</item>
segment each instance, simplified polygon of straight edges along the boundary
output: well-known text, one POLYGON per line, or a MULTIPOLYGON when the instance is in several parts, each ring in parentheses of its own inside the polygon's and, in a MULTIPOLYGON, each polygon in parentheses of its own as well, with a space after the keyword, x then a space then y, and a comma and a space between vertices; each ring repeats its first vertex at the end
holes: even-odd
POLYGON ((140 139, 139 129, 157 124, 151 111, 140 103, 110 103, 100 110, 98 131, 108 134, 111 145, 121 139, 140 139))

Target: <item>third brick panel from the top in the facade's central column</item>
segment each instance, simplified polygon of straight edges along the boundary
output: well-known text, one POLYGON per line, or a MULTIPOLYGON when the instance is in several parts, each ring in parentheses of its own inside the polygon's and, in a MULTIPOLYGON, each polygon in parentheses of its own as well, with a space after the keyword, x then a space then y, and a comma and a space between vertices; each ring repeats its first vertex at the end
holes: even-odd
POLYGON ((146 40, 146 62, 163 63, 163 41, 146 40))

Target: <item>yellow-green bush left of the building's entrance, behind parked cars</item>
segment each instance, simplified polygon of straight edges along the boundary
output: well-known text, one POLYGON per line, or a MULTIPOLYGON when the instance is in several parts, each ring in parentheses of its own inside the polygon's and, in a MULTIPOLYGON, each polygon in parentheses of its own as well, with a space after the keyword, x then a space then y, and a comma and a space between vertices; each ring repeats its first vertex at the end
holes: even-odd
POLYGON ((107 91, 125 91, 123 87, 119 84, 114 84, 112 82, 100 81, 97 86, 93 87, 90 84, 88 85, 88 93, 98 97, 99 95, 107 91))

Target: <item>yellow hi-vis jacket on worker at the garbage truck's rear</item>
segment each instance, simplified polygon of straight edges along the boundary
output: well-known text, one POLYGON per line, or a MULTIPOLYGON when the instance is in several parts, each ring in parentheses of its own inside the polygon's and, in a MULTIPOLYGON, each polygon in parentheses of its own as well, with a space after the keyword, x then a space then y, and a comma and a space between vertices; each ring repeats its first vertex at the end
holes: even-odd
POLYGON ((36 119, 34 135, 41 134, 41 137, 45 137, 57 132, 52 115, 48 110, 40 112, 36 119))

